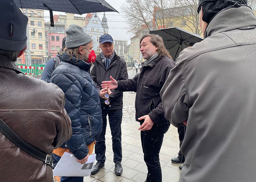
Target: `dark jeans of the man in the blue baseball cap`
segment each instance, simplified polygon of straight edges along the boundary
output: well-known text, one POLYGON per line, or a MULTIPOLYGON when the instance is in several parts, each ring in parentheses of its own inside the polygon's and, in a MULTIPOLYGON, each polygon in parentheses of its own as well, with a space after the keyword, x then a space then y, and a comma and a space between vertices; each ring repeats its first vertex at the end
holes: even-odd
POLYGON ((107 115, 112 135, 112 149, 114 152, 114 163, 122 161, 121 123, 123 110, 102 110, 102 131, 96 138, 95 154, 96 160, 101 163, 106 161, 105 134, 107 127, 107 115))

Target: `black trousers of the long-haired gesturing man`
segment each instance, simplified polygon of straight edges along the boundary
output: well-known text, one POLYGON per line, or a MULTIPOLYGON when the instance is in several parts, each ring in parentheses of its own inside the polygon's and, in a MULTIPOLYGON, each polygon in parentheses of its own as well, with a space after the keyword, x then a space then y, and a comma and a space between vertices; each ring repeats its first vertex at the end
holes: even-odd
MULTIPOLYGON (((140 125, 142 123, 140 122, 140 125)), ((163 143, 164 133, 166 133, 169 127, 170 124, 154 124, 150 130, 140 132, 144 161, 148 167, 147 182, 162 181, 159 152, 163 143)))

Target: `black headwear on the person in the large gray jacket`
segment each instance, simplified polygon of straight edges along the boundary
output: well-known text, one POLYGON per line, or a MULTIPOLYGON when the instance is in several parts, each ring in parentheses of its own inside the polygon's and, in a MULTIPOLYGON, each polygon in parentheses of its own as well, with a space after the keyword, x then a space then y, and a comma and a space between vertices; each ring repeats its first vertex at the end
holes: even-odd
POLYGON ((221 10, 228 6, 240 7, 241 4, 247 4, 247 0, 199 0, 197 12, 203 9, 203 21, 209 23, 210 20, 221 10))

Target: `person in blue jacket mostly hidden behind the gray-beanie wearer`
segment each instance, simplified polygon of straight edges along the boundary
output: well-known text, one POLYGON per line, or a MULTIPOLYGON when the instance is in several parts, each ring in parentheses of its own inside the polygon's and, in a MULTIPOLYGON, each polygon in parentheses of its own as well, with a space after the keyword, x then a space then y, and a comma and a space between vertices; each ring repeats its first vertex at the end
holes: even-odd
POLYGON ((50 82, 53 70, 56 69, 57 66, 60 64, 61 56, 67 49, 65 46, 65 42, 66 37, 62 39, 62 48, 58 51, 58 55, 46 62, 41 80, 44 80, 48 83, 50 82))

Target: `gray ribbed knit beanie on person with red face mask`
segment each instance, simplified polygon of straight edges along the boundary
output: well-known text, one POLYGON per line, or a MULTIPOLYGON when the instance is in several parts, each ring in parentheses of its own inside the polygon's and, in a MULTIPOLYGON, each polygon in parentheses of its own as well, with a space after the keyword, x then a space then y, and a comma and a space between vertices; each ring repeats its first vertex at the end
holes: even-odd
POLYGON ((84 46, 92 41, 91 35, 86 33, 81 26, 76 24, 71 24, 66 30, 66 47, 67 48, 76 48, 84 46))

